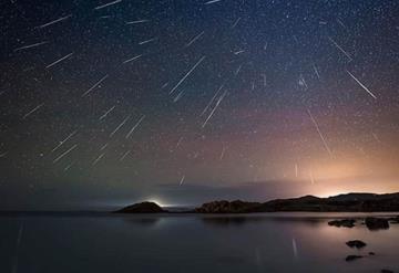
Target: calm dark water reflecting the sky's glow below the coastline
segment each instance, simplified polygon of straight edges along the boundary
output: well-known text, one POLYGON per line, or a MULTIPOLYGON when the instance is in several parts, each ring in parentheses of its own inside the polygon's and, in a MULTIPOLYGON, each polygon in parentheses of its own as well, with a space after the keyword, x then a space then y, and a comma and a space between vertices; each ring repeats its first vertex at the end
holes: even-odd
POLYGON ((336 217, 3 214, 0 272, 399 272, 399 224, 329 227, 336 217), (351 250, 354 239, 368 245, 351 250))

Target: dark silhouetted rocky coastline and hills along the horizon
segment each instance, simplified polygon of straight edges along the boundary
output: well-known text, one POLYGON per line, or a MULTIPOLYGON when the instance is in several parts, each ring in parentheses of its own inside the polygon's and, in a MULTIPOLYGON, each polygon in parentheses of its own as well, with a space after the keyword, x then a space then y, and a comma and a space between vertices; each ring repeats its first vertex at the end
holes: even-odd
MULTIPOLYGON (((278 212, 278 211, 307 211, 307 212, 389 212, 399 211, 399 192, 387 195, 375 193, 348 193, 328 198, 305 196, 291 199, 275 199, 267 202, 247 201, 212 201, 202 204, 194 210, 178 211, 185 213, 252 213, 252 212, 278 212)), ((142 202, 129 206, 116 212, 124 213, 160 213, 170 212, 154 202, 142 202)), ((173 213, 178 213, 173 212, 173 213)), ((399 222, 399 218, 391 221, 399 222)), ((354 220, 331 221, 330 225, 351 228, 354 220)), ((366 223, 367 224, 367 223, 366 223)), ((369 225, 382 227, 381 222, 369 221, 369 225)))

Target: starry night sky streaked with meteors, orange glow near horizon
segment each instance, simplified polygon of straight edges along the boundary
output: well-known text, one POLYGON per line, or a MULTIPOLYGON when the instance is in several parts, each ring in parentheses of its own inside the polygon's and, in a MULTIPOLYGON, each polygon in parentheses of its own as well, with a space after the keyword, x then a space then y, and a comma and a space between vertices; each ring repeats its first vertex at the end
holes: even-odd
POLYGON ((398 12, 1 1, 0 206, 399 191, 398 12))

